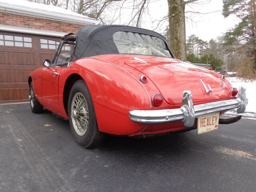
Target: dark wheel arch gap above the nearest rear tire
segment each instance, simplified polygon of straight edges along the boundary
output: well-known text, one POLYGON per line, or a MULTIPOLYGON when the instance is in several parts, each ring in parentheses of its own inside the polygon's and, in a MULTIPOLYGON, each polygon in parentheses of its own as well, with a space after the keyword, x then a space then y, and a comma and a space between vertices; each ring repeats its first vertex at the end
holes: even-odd
POLYGON ((79 74, 73 73, 70 76, 68 76, 65 82, 64 91, 63 91, 63 105, 64 105, 66 114, 68 114, 68 98, 69 98, 70 91, 74 83, 78 80, 83 80, 85 82, 82 76, 80 76, 79 74))

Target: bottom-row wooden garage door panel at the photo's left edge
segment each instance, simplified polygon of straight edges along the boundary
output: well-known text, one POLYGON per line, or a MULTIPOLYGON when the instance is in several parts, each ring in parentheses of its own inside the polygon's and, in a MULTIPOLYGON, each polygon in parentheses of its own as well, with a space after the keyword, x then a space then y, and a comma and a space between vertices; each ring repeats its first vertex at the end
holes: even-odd
POLYGON ((0 89, 0 101, 8 100, 27 100, 29 88, 0 89))

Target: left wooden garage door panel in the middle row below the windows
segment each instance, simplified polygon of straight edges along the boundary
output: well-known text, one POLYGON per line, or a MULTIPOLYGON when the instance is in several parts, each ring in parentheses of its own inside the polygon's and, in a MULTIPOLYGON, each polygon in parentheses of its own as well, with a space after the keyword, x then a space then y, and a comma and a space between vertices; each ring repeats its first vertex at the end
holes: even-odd
POLYGON ((0 82, 26 82, 31 71, 0 71, 0 82))

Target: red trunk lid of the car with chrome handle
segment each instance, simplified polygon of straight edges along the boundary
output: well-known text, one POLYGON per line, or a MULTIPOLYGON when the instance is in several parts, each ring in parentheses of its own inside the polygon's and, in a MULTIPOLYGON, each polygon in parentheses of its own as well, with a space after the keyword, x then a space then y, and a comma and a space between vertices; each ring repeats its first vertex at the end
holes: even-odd
POLYGON ((130 58, 125 61, 125 64, 136 68, 150 78, 169 104, 181 104, 184 90, 192 92, 194 103, 231 96, 231 91, 225 80, 220 78, 220 74, 172 58, 153 56, 137 56, 137 58, 138 60, 130 58), (213 92, 207 94, 202 82, 208 90, 209 84, 213 92))

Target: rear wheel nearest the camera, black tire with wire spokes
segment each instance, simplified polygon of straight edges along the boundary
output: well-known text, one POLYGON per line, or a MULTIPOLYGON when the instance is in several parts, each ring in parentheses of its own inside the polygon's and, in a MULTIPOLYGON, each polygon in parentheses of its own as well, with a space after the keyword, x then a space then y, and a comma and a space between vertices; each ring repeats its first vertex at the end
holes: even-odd
POLYGON ((69 120, 72 134, 74 135, 76 141, 80 145, 82 145, 84 148, 94 148, 96 146, 99 146, 102 143, 105 133, 100 132, 98 130, 92 97, 90 95, 90 92, 86 83, 82 80, 76 81, 70 91, 70 95, 68 98, 68 120, 69 120), (85 99, 86 101, 85 104, 88 109, 87 111, 82 109, 80 109, 79 111, 76 110, 76 106, 74 106, 74 103, 78 104, 76 100, 77 98, 85 99), (73 111, 75 110, 77 112, 76 115, 72 116, 72 110, 73 111), (87 119, 87 122, 88 122, 87 127, 85 125, 86 124, 85 119, 84 118, 80 119, 79 113, 82 114, 82 116, 87 119), (87 114, 87 116, 85 116, 84 114, 87 114), (82 129, 81 126, 79 126, 79 125, 82 125, 82 123, 80 124, 81 120, 84 120, 85 124, 82 126, 84 127, 84 129, 82 129))

